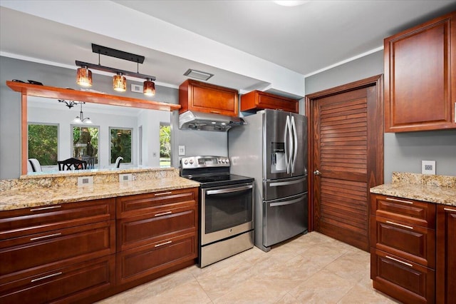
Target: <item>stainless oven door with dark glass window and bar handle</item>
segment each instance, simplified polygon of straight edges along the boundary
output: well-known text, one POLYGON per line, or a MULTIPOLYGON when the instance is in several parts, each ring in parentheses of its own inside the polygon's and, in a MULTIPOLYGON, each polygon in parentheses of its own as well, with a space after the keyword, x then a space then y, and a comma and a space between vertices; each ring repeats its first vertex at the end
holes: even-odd
POLYGON ((201 245, 253 229, 253 183, 201 189, 201 245))

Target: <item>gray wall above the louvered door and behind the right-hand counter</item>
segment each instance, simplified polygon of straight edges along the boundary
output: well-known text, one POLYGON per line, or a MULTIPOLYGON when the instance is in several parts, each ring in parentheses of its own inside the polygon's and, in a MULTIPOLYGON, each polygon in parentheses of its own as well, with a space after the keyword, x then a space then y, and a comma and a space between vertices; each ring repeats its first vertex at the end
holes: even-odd
MULTIPOLYGON (((383 74, 383 51, 306 78, 306 94, 383 74)), ((385 133, 385 183, 394 172, 421 173, 436 161, 436 174, 456 176, 456 130, 385 133)))

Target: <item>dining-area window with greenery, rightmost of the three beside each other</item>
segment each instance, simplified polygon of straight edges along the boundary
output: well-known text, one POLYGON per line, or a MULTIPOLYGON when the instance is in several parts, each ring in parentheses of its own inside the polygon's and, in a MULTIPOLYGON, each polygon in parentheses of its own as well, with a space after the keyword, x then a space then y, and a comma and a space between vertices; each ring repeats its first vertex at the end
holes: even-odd
POLYGON ((111 141, 111 160, 110 163, 115 163, 115 160, 121 156, 122 163, 132 163, 132 133, 133 128, 109 128, 111 141))

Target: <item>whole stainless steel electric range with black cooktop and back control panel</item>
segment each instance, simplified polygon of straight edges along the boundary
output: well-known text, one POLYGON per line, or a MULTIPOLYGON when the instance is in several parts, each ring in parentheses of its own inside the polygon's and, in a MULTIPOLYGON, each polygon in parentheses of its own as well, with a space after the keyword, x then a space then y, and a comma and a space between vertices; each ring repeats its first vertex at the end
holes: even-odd
POLYGON ((224 156, 180 161, 180 176, 199 185, 199 255, 204 267, 254 245, 254 178, 229 173, 224 156))

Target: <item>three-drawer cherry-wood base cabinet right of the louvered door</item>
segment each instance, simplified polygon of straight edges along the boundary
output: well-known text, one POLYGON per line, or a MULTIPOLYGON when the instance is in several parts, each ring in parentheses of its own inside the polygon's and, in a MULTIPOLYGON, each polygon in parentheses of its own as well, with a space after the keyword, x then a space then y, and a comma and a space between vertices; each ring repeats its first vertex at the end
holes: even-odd
POLYGON ((435 303, 435 204, 371 195, 373 287, 403 303, 435 303))

